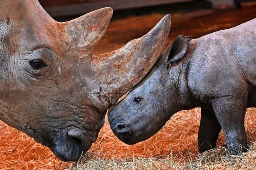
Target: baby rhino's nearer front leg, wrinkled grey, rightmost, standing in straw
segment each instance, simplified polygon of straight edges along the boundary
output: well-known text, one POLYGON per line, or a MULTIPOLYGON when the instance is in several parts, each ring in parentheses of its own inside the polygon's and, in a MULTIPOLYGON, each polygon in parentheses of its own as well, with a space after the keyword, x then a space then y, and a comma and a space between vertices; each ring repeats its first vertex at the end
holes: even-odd
POLYGON ((222 97, 212 100, 212 108, 223 129, 228 149, 232 154, 248 149, 244 129, 247 100, 236 97, 222 97))

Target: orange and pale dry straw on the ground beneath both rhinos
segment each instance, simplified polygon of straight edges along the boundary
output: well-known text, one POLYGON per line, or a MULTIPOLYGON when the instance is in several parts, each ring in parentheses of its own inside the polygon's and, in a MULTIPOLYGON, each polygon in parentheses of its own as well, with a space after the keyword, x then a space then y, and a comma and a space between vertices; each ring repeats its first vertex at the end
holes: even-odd
POLYGON ((0 169, 256 169, 255 121, 256 109, 248 109, 250 151, 240 156, 228 153, 222 132, 217 149, 198 153, 198 108, 177 113, 151 139, 131 146, 118 141, 106 123, 86 156, 72 164, 60 162, 46 147, 1 123, 0 169))

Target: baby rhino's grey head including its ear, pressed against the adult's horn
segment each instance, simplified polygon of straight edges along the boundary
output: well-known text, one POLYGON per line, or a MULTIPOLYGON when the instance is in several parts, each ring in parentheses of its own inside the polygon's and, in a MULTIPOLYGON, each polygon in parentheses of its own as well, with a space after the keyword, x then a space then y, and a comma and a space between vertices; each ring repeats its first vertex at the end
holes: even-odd
POLYGON ((146 77, 108 111, 115 135, 128 145, 157 133, 180 110, 177 80, 181 75, 171 64, 182 59, 190 37, 178 36, 169 45, 146 77))

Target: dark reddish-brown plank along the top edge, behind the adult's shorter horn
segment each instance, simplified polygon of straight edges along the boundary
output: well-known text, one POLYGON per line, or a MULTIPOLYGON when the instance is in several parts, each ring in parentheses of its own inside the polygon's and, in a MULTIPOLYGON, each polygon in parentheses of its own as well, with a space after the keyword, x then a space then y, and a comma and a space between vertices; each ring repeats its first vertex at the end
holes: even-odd
MULTIPOLYGON (((80 4, 48 6, 45 8, 45 10, 52 17, 62 17, 86 14, 93 10, 97 10, 104 7, 111 7, 114 10, 123 10, 129 8, 140 8, 145 6, 156 6, 189 1, 193 0, 104 0, 100 2, 98 2, 97 0, 95 2, 87 2, 80 4)), ((41 1, 41 3, 43 4, 43 1, 41 1)))

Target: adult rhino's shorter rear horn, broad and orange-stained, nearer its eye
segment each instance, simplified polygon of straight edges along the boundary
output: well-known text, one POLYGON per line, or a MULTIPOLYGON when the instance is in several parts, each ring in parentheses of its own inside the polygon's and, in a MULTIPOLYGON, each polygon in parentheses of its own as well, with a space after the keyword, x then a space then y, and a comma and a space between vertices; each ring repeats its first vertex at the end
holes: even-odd
POLYGON ((101 8, 71 21, 58 23, 61 30, 64 49, 69 55, 86 58, 94 46, 105 34, 113 10, 110 7, 101 8))

